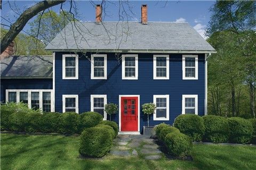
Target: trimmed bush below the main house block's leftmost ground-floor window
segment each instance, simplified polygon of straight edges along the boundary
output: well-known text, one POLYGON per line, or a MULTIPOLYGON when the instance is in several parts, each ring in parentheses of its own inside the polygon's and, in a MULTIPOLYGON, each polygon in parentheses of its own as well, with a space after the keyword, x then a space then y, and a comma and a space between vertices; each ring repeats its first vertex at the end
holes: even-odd
POLYGON ((62 134, 77 133, 77 123, 79 115, 75 112, 66 112, 60 114, 59 132, 62 134))

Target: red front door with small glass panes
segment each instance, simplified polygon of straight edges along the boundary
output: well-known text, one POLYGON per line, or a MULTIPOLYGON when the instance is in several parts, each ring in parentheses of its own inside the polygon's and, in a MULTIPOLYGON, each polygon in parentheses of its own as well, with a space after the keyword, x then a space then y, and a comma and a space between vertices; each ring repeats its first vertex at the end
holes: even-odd
POLYGON ((138 131, 138 97, 121 97, 121 131, 138 131))

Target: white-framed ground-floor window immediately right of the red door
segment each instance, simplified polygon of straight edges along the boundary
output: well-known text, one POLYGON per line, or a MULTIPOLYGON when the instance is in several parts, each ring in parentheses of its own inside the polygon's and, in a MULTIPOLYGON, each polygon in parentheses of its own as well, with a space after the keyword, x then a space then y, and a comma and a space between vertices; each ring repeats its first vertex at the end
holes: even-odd
POLYGON ((154 95, 154 121, 169 121, 169 95, 154 95))

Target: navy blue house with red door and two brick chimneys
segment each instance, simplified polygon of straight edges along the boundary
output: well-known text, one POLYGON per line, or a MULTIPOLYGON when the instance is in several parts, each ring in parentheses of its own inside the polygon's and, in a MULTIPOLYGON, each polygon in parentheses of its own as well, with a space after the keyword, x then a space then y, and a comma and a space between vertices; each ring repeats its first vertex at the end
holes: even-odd
MULTIPOLYGON (((115 103, 119 111, 111 119, 121 134, 142 132, 145 103, 157 107, 150 125, 172 124, 180 114, 207 114, 206 58, 215 50, 189 23, 148 22, 146 5, 141 22, 102 22, 101 6, 96 9, 96 22, 70 22, 51 41, 46 49, 52 60, 35 57, 52 65, 52 75, 41 62, 41 78, 31 72, 7 79, 10 70, 1 68, 1 101, 24 101, 27 95, 29 107, 46 111, 48 103, 47 111, 94 111, 105 120, 104 105, 115 103)), ((13 69, 11 61, 8 66, 13 69)))

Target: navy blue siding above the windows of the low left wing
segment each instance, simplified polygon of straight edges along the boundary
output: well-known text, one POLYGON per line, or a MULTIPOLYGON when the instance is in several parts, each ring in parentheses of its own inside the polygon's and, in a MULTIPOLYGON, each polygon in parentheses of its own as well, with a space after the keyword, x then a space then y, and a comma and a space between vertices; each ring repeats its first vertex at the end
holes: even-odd
POLYGON ((6 89, 52 89, 52 79, 1 79, 1 101, 6 89))

